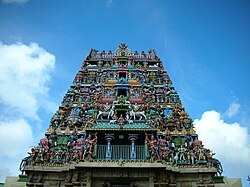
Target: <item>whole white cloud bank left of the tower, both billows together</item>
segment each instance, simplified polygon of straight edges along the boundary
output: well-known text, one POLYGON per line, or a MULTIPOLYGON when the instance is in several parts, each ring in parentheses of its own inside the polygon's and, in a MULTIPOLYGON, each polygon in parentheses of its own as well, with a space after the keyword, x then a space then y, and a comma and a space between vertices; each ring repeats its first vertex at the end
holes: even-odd
POLYGON ((50 73, 55 56, 36 43, 5 45, 0 42, 0 181, 18 175, 22 158, 37 145, 39 108, 54 106, 48 99, 50 73), (36 137, 37 138, 37 137, 36 137))

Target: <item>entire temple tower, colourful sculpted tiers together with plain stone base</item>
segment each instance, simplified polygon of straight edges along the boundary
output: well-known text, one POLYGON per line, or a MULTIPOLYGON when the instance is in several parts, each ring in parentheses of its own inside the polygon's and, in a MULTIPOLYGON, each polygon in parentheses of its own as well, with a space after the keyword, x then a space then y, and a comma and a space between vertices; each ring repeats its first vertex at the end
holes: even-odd
POLYGON ((120 44, 90 50, 20 169, 34 187, 213 187, 213 155, 155 50, 120 44))

